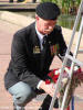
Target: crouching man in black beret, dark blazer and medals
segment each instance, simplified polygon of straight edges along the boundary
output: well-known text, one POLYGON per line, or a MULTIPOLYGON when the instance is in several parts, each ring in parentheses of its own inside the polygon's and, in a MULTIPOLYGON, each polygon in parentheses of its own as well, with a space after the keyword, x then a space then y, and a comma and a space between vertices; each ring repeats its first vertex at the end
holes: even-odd
MULTIPOLYGON (((41 90, 48 97, 40 110, 49 110, 54 94, 53 84, 45 84, 49 67, 54 55, 63 61, 66 52, 61 28, 55 25, 60 15, 59 7, 44 2, 37 7, 35 12, 35 22, 13 36, 11 62, 4 76, 6 88, 13 97, 14 110, 24 110, 23 107, 41 90)), ((58 108, 58 100, 54 107, 58 108)))

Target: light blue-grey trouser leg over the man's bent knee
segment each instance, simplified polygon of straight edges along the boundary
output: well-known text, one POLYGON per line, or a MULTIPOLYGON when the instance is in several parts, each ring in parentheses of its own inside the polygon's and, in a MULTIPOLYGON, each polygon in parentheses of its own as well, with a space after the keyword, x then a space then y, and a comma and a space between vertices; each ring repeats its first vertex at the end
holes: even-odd
POLYGON ((12 87, 8 89, 8 91, 12 95, 13 97, 13 102, 15 105, 17 110, 23 110, 23 107, 37 95, 33 92, 31 87, 23 82, 19 81, 12 87))

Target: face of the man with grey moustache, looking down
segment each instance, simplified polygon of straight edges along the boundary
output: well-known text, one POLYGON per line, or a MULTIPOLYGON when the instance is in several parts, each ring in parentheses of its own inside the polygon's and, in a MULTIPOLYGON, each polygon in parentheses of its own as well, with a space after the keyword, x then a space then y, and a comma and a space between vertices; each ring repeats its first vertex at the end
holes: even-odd
POLYGON ((56 20, 43 20, 38 15, 35 16, 35 19, 38 31, 41 34, 50 34, 53 31, 54 25, 56 24, 56 20))

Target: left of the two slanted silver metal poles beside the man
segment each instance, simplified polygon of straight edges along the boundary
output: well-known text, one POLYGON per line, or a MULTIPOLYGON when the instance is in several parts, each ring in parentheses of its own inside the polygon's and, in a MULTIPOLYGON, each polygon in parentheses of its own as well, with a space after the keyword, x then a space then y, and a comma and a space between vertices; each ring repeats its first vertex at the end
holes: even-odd
MULTIPOLYGON (((70 44, 69 44, 66 54, 70 53, 71 46, 72 46, 72 43, 73 43, 73 38, 74 38, 74 34, 75 34, 75 31, 76 31, 76 28, 77 28, 77 23, 79 23, 79 20, 80 20, 80 18, 81 18, 82 7, 83 7, 83 1, 81 2, 80 8, 79 8, 79 12, 77 12, 76 20, 75 20, 74 28, 73 28, 72 37, 71 37, 71 41, 70 41, 70 44)), ((65 54, 65 55, 66 55, 66 54, 65 54)), ((64 70, 65 64, 66 64, 66 57, 64 57, 64 62, 63 62, 63 65, 62 65, 62 68, 61 68, 61 74, 60 74, 60 77, 59 77, 59 79, 58 79, 56 87, 55 87, 55 91, 54 91, 54 96, 53 96, 53 98, 52 98, 52 101, 51 101, 51 105, 50 105, 50 109, 49 109, 49 110, 52 110, 52 109, 53 109, 54 101, 55 101, 55 99, 56 99, 56 94, 58 94, 59 87, 60 87, 60 85, 61 85, 62 73, 63 73, 63 70, 64 70)), ((71 73, 72 73, 72 70, 73 70, 73 67, 74 67, 74 64, 72 64, 71 73)), ((64 106, 63 106, 63 107, 64 107, 64 106)), ((63 110, 63 109, 62 109, 62 110, 63 110)))

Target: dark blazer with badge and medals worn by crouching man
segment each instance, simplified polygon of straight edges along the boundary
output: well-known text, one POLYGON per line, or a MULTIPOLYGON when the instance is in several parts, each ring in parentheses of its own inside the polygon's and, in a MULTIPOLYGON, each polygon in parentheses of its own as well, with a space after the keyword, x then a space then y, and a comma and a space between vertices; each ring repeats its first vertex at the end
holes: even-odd
POLYGON ((45 80, 54 55, 56 54, 59 57, 65 55, 66 45, 60 26, 55 26, 53 32, 48 35, 48 50, 44 54, 40 50, 35 23, 14 34, 11 61, 4 76, 7 89, 18 81, 24 81, 35 88, 41 79, 45 80), (59 46, 58 52, 55 52, 56 45, 59 46))

